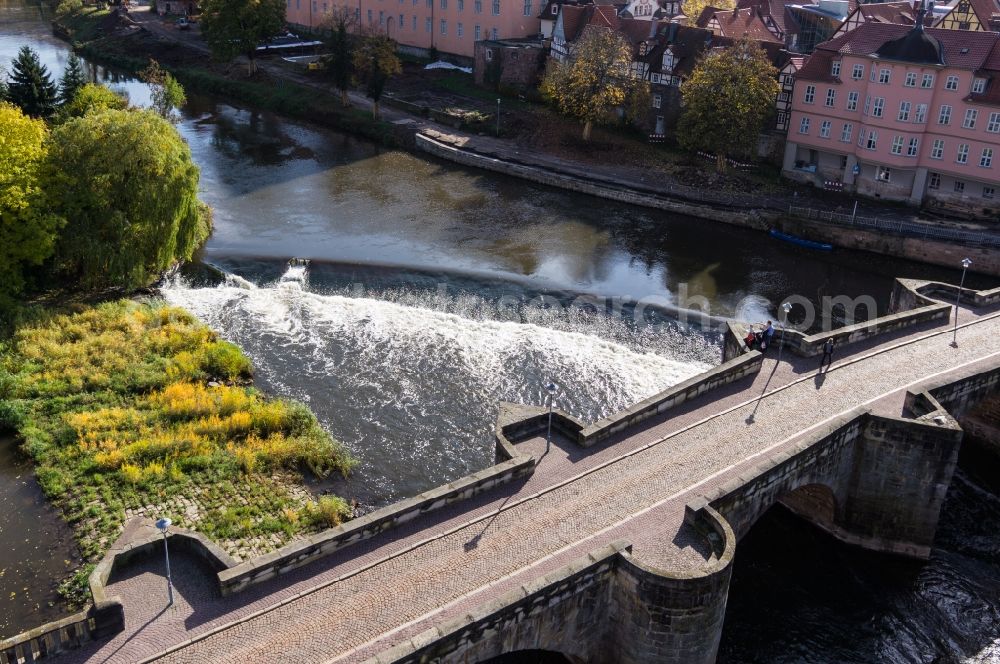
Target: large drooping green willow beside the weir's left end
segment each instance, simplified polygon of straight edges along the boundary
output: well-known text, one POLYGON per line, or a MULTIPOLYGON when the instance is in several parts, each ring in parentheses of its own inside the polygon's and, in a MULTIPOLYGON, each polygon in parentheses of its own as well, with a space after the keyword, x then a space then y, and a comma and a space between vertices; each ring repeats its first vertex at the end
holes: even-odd
POLYGON ((148 285, 208 237, 191 151, 152 111, 107 110, 56 127, 42 177, 66 220, 55 268, 84 288, 148 285))

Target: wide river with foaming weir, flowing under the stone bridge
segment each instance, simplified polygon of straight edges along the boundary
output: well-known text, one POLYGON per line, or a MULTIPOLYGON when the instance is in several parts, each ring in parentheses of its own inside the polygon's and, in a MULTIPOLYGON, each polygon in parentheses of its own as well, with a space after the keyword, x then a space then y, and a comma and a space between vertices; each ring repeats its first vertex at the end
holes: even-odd
MULTIPOLYGON (((62 71, 66 46, 37 9, 0 0, 0 64, 25 43, 62 71)), ((142 84, 92 71, 147 102, 142 84)), ((164 296, 243 347, 261 387, 309 403, 361 461, 350 480, 316 490, 368 509, 488 465, 501 400, 541 403, 554 380, 557 406, 595 419, 718 362, 717 331, 678 312, 764 320, 793 294, 816 306, 871 296, 884 311, 895 276, 957 277, 457 168, 200 95, 177 126, 216 225, 164 296), (293 257, 311 264, 289 268, 293 257)), ((720 661, 951 662, 985 652, 1000 584, 990 539, 1000 510, 982 509, 998 502, 992 476, 959 474, 953 518, 925 565, 867 556, 769 513, 740 545, 720 661), (956 563, 969 540, 983 543, 975 564, 956 563), (792 550, 799 566, 785 564, 792 550), (956 597, 945 576, 964 583, 968 601, 949 605, 957 613, 919 601, 956 597), (961 620, 969 615, 972 628, 961 620)), ((35 548, 5 547, 0 568, 24 569, 28 558, 48 567, 0 575, 4 632, 57 615, 47 575, 72 560, 65 528, 37 533, 30 525, 46 508, 27 503, 0 528, 35 548), (23 587, 38 608, 9 596, 23 587)))

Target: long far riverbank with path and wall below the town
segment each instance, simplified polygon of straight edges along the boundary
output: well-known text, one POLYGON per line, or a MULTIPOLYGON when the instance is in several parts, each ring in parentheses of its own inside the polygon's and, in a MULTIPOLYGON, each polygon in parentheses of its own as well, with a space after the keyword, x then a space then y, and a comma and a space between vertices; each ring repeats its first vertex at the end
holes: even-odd
MULTIPOLYGON (((594 164, 573 156, 540 152, 520 141, 456 130, 435 122, 433 118, 436 116, 427 113, 426 109, 418 109, 420 115, 401 111, 399 107, 406 105, 393 107, 391 98, 383 104, 388 107, 383 111, 384 120, 376 122, 366 112, 370 101, 359 94, 352 92, 353 106, 344 109, 340 106, 339 95, 332 94, 329 86, 278 64, 262 63, 260 73, 252 80, 241 76, 242 67, 211 65, 206 68, 207 48, 191 34, 174 35, 155 17, 148 14, 145 17, 141 14, 135 16, 140 19, 138 23, 126 17, 120 17, 116 23, 101 19, 105 33, 110 34, 85 44, 79 44, 76 35, 93 34, 86 22, 75 31, 64 25, 57 32, 65 33, 65 37, 70 38, 88 58, 109 66, 135 72, 146 66, 146 58, 153 57, 166 63, 192 90, 221 93, 267 110, 360 135, 387 147, 422 151, 462 165, 543 182, 553 187, 754 230, 779 228, 845 249, 859 249, 949 268, 968 256, 973 260, 974 271, 1000 276, 1000 252, 990 247, 925 237, 919 233, 893 234, 790 215, 793 205, 833 211, 835 207, 840 210, 843 205, 853 202, 843 196, 829 199, 827 194, 811 188, 792 184, 776 188, 762 183, 753 184, 753 180, 748 179, 741 185, 744 191, 734 192, 731 182, 719 179, 714 173, 700 176, 697 186, 672 182, 656 169, 644 168, 645 164, 594 164), (185 48, 171 48, 176 44, 185 48), (135 57, 136 52, 144 57, 135 57), (433 142, 446 146, 434 147, 433 142)), ((886 226, 898 222, 921 222, 913 216, 912 210, 898 206, 874 207, 870 203, 862 203, 860 214, 868 217, 878 215, 877 219, 885 221, 886 226)), ((991 235, 995 233, 982 224, 939 220, 923 220, 923 224, 935 230, 952 229, 957 239, 968 234, 967 227, 991 235)))

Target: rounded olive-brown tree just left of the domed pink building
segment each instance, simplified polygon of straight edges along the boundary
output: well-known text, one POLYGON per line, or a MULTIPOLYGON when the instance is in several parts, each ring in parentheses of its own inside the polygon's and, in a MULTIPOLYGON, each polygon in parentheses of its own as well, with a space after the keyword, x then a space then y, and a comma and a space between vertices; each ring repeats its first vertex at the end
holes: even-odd
POLYGON ((731 156, 753 157, 779 90, 778 71, 756 42, 709 51, 681 87, 677 141, 714 154, 720 173, 731 156))

